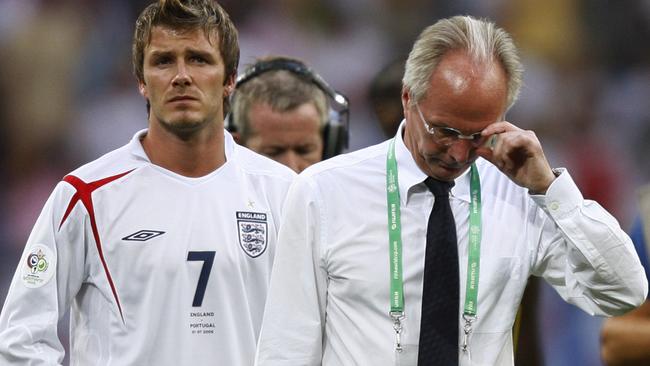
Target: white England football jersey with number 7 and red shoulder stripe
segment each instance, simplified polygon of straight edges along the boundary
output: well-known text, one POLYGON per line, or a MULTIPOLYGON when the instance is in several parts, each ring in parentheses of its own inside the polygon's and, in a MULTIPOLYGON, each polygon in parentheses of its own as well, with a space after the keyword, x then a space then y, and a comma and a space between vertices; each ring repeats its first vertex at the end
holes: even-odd
POLYGON ((252 365, 294 173, 226 135, 200 178, 140 137, 67 175, 36 222, 0 315, 1 365, 252 365))

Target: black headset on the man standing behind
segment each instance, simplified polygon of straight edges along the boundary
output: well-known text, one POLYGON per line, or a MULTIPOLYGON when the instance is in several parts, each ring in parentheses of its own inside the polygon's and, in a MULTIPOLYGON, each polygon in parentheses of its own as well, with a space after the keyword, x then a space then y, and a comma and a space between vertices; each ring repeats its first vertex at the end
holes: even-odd
MULTIPOLYGON (((330 100, 329 119, 323 126, 323 159, 331 158, 340 154, 348 147, 349 125, 350 125, 350 103, 348 98, 334 90, 323 78, 314 72, 310 67, 300 61, 278 58, 270 61, 259 61, 246 68, 237 77, 235 92, 231 98, 236 98, 237 88, 249 80, 268 71, 286 70, 294 73, 322 90, 330 100)), ((231 102, 232 104, 232 102, 231 102)), ((226 129, 230 132, 237 131, 233 121, 232 112, 226 117, 226 129)))

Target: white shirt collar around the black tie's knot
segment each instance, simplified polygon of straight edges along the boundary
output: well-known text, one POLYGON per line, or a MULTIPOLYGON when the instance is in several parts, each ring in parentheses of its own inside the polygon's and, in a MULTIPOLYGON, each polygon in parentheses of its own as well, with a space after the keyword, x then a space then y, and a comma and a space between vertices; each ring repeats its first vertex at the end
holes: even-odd
MULTIPOLYGON (((427 175, 417 166, 411 152, 404 143, 402 132, 404 131, 405 125, 405 120, 402 120, 395 135, 395 157, 397 159, 399 195, 401 204, 403 205, 408 203, 410 194, 427 190, 423 183, 427 175)), ((470 202, 469 171, 467 169, 467 171, 455 179, 454 187, 451 189, 451 197, 470 202)))

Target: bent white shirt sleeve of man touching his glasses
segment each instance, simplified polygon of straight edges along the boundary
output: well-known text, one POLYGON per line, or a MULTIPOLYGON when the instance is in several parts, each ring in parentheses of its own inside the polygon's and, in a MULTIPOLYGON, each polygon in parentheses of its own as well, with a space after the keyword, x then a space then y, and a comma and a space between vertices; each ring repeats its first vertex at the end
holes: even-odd
POLYGON ((564 171, 545 196, 534 272, 591 315, 621 315, 643 303, 648 281, 632 241, 598 203, 585 200, 564 171))

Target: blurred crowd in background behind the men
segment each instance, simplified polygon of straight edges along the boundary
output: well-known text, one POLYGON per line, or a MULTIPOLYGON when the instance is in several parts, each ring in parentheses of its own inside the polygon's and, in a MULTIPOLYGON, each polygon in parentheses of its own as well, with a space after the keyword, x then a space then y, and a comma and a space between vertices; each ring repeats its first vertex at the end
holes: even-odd
MULTIPOLYGON (((0 0, 0 301, 41 207, 70 170, 146 127, 131 72, 149 0, 0 0)), ((223 0, 255 57, 310 64, 351 104, 350 149, 384 139, 369 85, 435 20, 487 17, 521 50, 524 87, 506 120, 536 131, 554 166, 618 218, 650 181, 650 1, 223 0), (644 46, 645 45, 645 46, 644 46)), ((548 365, 599 365, 602 319, 550 288, 539 323, 548 365)))

